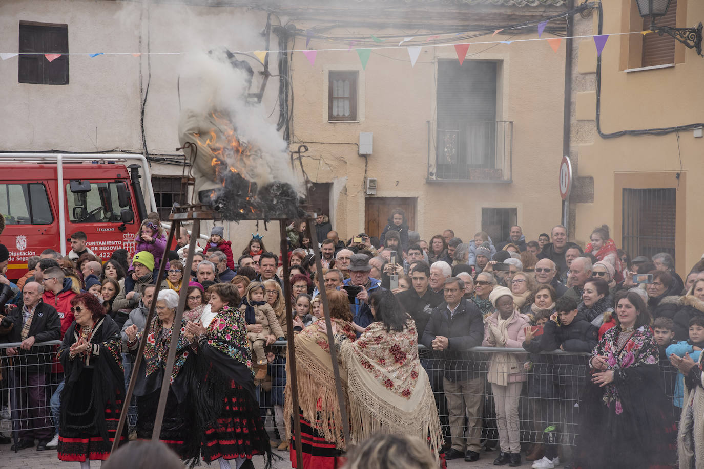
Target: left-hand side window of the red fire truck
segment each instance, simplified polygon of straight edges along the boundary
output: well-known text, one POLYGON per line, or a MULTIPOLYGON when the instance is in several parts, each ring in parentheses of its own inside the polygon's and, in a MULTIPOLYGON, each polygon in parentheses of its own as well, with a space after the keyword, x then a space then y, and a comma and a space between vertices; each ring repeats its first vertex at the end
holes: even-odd
POLYGON ((54 221, 44 184, 0 184, 0 210, 8 225, 49 225, 54 221))

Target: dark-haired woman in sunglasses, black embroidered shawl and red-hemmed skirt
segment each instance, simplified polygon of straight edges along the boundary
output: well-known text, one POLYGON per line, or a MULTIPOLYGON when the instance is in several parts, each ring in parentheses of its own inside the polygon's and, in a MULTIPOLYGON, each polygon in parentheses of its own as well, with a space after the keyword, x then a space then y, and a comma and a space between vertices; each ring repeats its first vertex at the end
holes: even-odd
MULTIPOLYGON (((65 375, 58 458, 89 468, 90 460, 105 461, 110 455, 122 411, 120 328, 91 293, 73 297, 71 312, 75 321, 58 347, 65 375)), ((127 442, 126 426, 120 441, 127 442)))

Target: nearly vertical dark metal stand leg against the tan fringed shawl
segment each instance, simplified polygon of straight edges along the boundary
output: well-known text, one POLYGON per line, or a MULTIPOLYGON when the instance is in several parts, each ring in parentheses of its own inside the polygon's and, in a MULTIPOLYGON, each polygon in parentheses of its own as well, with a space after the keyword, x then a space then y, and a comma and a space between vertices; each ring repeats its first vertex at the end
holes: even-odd
POLYGON ((289 353, 289 376, 291 399, 294 408, 294 437, 296 439, 296 467, 303 468, 303 453, 301 452, 301 419, 298 418, 301 407, 298 406, 298 370, 296 370, 296 347, 294 347, 294 317, 291 306, 291 282, 289 282, 289 245, 286 241, 286 221, 279 220, 279 236, 281 236, 281 264, 284 268, 284 298, 286 299, 286 333, 289 353))

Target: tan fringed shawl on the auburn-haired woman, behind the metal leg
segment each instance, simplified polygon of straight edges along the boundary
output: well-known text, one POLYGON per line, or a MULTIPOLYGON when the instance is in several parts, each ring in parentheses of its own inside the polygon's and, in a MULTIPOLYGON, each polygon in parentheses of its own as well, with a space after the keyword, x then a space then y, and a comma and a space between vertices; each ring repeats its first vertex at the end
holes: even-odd
MULTIPOLYGON (((338 333, 344 331, 350 340, 356 338, 350 323, 340 319, 331 319, 331 321, 337 324, 338 333)), ((317 324, 311 324, 296 335, 294 347, 296 351, 296 378, 298 380, 298 406, 301 407, 301 413, 310 422, 310 426, 315 428, 327 442, 334 443, 337 449, 344 450, 342 413, 337 400, 327 335, 318 329, 317 324)), ((298 418, 298 415, 294 416, 289 366, 290 363, 287 362, 286 373, 289 380, 286 383, 284 420, 288 437, 291 439, 291 418, 298 418)), ((347 380, 342 371, 340 374, 347 405, 347 380)))

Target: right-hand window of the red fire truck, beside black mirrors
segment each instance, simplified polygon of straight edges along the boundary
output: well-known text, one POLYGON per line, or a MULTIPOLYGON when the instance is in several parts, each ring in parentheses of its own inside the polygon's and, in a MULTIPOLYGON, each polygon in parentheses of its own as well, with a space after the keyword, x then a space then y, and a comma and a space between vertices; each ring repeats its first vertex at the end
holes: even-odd
MULTIPOLYGON (((122 182, 92 182, 87 193, 73 193, 66 184, 68 219, 72 223, 122 223, 118 198, 118 184, 122 182)), ((131 209, 130 209, 131 210, 131 209)))

